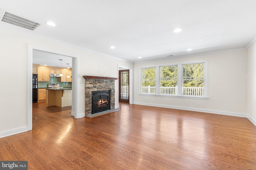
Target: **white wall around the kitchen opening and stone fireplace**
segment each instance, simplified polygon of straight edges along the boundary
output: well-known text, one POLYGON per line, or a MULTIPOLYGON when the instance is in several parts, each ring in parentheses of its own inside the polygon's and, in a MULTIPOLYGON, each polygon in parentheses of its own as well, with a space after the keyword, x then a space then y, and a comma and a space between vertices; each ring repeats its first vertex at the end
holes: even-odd
MULTIPOLYGON (((28 44, 80 56, 80 62, 78 63, 80 95, 77 105, 80 115, 84 114, 85 109, 85 82, 82 76, 117 77, 118 64, 129 68, 133 67, 133 63, 130 62, 79 49, 36 35, 33 36, 4 28, 0 28, 0 32, 0 64, 2 69, 0 83, 2 89, 0 95, 0 137, 3 137, 8 132, 12 133, 11 131, 21 132, 21 129, 28 125, 28 44), (100 74, 99 69, 106 71, 106 73, 100 74)), ((117 85, 116 92, 118 92, 117 85)), ((117 105, 117 94, 115 102, 117 105)))

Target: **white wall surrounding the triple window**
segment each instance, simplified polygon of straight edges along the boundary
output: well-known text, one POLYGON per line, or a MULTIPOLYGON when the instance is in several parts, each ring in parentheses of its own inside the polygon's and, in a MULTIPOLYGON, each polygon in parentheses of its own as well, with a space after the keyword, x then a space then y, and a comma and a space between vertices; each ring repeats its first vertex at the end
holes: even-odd
POLYGON ((134 63, 134 104, 246 117, 246 51, 134 63), (208 99, 139 95, 140 67, 208 61, 208 99), (146 99, 146 101, 145 101, 146 99), (197 106, 200 103, 200 106, 197 106))

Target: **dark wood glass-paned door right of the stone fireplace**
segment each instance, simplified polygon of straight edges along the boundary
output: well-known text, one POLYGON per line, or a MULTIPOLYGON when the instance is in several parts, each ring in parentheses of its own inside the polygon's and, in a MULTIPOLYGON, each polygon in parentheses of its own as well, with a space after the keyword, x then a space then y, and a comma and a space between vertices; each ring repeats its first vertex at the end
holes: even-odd
POLYGON ((119 70, 119 102, 129 103, 129 70, 119 70))

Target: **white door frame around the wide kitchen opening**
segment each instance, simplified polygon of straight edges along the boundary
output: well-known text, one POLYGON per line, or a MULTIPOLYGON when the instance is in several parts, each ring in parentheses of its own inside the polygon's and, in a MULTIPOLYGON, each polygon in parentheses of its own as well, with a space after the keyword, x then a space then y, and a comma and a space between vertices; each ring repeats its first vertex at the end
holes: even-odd
POLYGON ((45 51, 48 53, 55 53, 59 55, 64 55, 67 57, 72 57, 72 111, 71 115, 73 115, 76 119, 79 118, 78 113, 78 102, 79 101, 79 81, 78 81, 78 63, 79 63, 79 55, 74 55, 70 53, 65 53, 63 51, 55 51, 52 49, 46 49, 43 47, 30 45, 28 44, 28 131, 32 130, 32 65, 33 65, 33 49, 39 51, 45 51), (74 74, 73 74, 74 72, 74 74))

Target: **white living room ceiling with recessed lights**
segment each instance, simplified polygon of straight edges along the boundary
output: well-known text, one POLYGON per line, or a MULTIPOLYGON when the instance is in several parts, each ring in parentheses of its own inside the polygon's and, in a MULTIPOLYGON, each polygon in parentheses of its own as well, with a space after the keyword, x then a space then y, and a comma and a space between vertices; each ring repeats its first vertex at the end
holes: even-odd
POLYGON ((245 48, 256 37, 255 7, 256 0, 0 0, 0 8, 41 24, 0 26, 138 62, 245 48))

